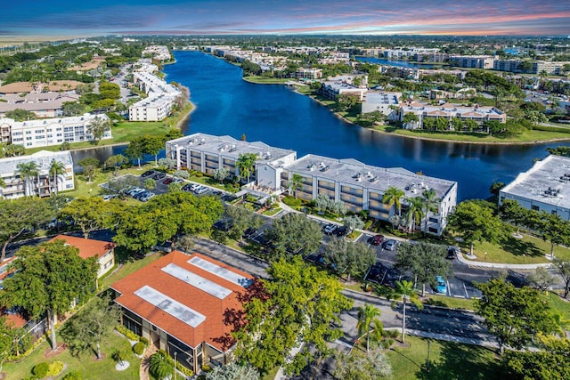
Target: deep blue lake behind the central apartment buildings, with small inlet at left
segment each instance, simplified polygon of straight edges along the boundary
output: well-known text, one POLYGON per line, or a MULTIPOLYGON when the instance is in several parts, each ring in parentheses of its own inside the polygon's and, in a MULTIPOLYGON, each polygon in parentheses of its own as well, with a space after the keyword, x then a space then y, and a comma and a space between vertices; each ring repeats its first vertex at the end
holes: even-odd
MULTIPOLYGON (((184 134, 228 134, 297 150, 356 158, 374 166, 401 166, 412 172, 459 182, 459 198, 487 198, 493 182, 509 182, 547 155, 546 148, 570 143, 497 146, 420 141, 348 125, 328 109, 284 85, 255 85, 241 80, 241 69, 198 52, 175 52, 165 67, 167 81, 191 89, 197 109, 184 134)), ((124 148, 97 150, 99 158, 124 148)), ((74 154, 93 155, 93 151, 74 154)), ((74 159, 77 159, 74 157, 74 159)), ((77 162, 77 161, 76 161, 77 162)))

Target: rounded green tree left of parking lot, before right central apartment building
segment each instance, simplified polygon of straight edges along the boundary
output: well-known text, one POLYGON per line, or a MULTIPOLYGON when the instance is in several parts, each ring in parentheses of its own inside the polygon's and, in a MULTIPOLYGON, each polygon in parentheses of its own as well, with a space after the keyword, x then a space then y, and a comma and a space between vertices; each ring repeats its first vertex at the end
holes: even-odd
POLYGON ((321 246, 321 225, 305 216, 290 213, 276 219, 272 227, 265 232, 267 239, 273 243, 273 251, 277 255, 286 252, 315 252, 321 246))

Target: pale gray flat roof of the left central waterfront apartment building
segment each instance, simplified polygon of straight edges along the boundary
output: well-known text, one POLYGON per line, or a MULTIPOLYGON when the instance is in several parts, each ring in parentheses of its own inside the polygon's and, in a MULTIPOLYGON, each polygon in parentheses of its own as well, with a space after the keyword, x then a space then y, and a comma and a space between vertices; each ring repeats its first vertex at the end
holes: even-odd
POLYGON ((180 139, 167 141, 167 143, 179 146, 189 145, 190 147, 196 147, 196 150, 202 150, 206 153, 211 152, 215 155, 223 154, 225 157, 234 159, 240 157, 240 154, 256 153, 257 163, 272 163, 295 153, 295 150, 271 147, 261 141, 240 141, 232 136, 214 136, 206 133, 194 133, 180 139))

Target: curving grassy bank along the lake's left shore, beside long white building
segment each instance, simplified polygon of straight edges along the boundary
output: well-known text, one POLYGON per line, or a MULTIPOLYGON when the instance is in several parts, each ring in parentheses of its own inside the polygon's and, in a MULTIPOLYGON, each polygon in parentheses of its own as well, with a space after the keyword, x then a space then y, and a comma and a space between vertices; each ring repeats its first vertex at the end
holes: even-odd
MULTIPOLYGON (((70 150, 83 150, 88 148, 104 147, 109 145, 121 145, 128 144, 134 137, 151 135, 158 136, 174 127, 179 127, 180 122, 183 121, 188 114, 191 113, 193 105, 188 103, 188 105, 175 116, 167 117, 162 121, 120 121, 117 125, 113 125, 111 128, 111 133, 113 134, 112 139, 99 141, 96 145, 91 141, 81 141, 73 142, 69 144, 70 150)), ((59 145, 53 145, 49 147, 39 147, 26 150, 26 154, 36 153, 39 150, 50 150, 58 151, 60 150, 59 145)))

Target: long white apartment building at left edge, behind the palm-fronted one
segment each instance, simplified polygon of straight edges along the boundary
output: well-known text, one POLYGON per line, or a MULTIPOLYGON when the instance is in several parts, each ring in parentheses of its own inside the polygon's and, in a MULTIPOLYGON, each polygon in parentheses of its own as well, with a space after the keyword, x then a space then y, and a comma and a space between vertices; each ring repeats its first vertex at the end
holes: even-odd
MULTIPOLYGON (((42 118, 28 121, 0 119, 0 136, 3 142, 22 145, 24 148, 60 145, 63 141, 92 141, 91 125, 94 120, 109 120, 107 115, 85 114, 76 117, 42 118)), ((110 129, 102 140, 112 138, 110 129)))

